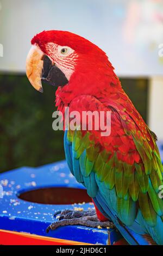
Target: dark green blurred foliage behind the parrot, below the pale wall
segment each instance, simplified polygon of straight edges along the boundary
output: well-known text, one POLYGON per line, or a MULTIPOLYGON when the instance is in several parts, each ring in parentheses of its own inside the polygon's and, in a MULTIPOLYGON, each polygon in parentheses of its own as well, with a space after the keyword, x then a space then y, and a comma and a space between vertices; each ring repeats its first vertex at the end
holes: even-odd
MULTIPOLYGON (((121 81, 146 120, 147 81, 121 81)), ((52 129, 55 89, 43 84, 43 90, 34 90, 26 75, 0 75, 0 172, 65 158, 64 132, 52 129)))

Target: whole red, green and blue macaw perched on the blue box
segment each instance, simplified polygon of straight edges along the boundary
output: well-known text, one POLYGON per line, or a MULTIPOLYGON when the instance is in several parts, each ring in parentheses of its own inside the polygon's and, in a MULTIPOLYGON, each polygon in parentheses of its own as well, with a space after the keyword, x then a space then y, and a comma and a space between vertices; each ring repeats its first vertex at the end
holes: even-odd
POLYGON ((110 111, 111 133, 66 130, 68 167, 95 204, 95 212, 63 211, 60 225, 111 226, 131 245, 163 244, 162 163, 156 136, 149 130, 106 54, 79 35, 43 31, 32 39, 27 57, 30 83, 42 92, 41 80, 58 86, 56 106, 70 111, 110 111))

